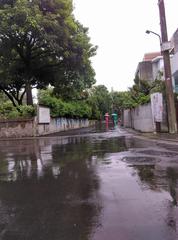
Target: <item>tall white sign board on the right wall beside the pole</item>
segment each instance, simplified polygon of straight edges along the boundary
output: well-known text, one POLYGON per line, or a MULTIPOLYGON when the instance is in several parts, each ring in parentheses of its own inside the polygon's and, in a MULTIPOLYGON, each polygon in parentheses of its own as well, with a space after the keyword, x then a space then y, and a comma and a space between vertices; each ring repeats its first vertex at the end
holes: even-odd
POLYGON ((163 95, 162 93, 151 94, 151 109, 154 122, 163 121, 163 95))

